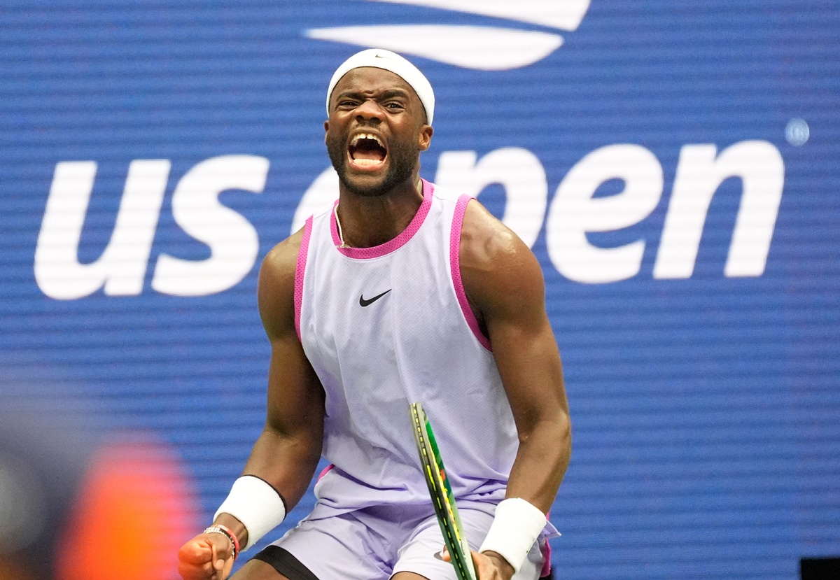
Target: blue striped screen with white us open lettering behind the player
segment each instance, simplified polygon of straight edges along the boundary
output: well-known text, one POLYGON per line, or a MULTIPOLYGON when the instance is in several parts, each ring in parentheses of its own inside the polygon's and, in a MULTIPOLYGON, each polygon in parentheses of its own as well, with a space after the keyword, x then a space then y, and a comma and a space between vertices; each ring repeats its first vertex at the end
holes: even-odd
POLYGON ((836 2, 0 13, 8 397, 61 385, 68 414, 155 433, 208 520, 265 417, 260 260, 336 195, 326 86, 379 45, 436 91, 422 175, 543 265, 575 436, 559 577, 840 556, 836 2))

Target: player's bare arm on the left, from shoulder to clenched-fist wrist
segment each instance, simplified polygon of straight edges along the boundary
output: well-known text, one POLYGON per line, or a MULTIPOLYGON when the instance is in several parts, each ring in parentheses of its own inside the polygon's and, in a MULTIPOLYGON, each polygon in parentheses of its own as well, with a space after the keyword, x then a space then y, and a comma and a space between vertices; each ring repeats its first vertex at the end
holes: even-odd
MULTIPOLYGON (((286 509, 306 492, 323 442, 323 389, 295 330, 295 269, 301 237, 298 232, 278 244, 260 269, 257 299, 271 343, 268 412, 243 471, 270 483, 285 500, 286 509)), ((247 531, 238 520, 222 514, 218 523, 231 527, 244 546, 247 531)))

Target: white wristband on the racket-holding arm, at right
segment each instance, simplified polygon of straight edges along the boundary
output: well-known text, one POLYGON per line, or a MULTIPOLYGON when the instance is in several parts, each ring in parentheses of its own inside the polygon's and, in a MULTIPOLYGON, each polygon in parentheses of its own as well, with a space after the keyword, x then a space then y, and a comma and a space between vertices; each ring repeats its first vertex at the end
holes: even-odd
POLYGON ((522 498, 505 499, 478 551, 495 551, 519 572, 533 543, 545 527, 545 514, 522 498))

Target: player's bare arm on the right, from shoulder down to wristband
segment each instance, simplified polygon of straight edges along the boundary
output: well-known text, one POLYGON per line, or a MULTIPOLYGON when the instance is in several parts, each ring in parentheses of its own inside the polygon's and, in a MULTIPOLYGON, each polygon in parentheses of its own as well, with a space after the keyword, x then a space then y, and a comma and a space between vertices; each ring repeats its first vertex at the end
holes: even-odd
POLYGON ((475 201, 467 206, 459 256, 519 436, 507 497, 548 512, 569 465, 571 429, 542 270, 522 240, 475 201))

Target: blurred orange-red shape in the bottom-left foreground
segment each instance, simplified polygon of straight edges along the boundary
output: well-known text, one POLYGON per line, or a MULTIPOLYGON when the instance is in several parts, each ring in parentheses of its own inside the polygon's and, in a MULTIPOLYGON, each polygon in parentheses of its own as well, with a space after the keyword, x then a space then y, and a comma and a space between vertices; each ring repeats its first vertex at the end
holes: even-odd
POLYGON ((93 459, 60 542, 57 580, 171 580, 195 534, 195 492, 158 442, 119 442, 93 459))

